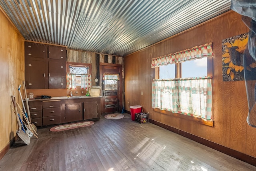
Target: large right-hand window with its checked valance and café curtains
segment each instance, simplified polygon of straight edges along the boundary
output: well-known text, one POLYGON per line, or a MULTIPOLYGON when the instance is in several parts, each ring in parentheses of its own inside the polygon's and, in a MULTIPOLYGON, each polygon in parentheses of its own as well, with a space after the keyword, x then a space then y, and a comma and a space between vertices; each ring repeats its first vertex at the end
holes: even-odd
POLYGON ((156 70, 152 107, 212 125, 212 48, 211 44, 194 48, 152 59, 156 70))

